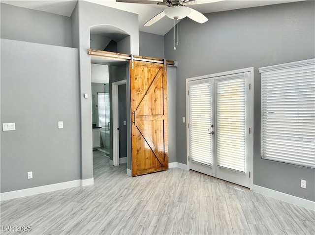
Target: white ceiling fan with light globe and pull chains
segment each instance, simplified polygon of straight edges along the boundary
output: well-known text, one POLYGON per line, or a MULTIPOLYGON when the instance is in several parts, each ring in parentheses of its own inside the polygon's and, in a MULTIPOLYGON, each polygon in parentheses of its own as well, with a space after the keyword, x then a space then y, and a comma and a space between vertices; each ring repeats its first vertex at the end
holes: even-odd
POLYGON ((189 17, 191 20, 198 22, 200 24, 208 21, 208 18, 205 17, 199 11, 196 11, 186 5, 196 4, 196 0, 116 0, 117 2, 128 2, 128 3, 142 3, 142 4, 155 4, 155 5, 164 5, 168 6, 164 11, 158 13, 158 15, 151 18, 143 26, 151 26, 154 23, 158 22, 164 16, 167 16, 176 21, 189 17))

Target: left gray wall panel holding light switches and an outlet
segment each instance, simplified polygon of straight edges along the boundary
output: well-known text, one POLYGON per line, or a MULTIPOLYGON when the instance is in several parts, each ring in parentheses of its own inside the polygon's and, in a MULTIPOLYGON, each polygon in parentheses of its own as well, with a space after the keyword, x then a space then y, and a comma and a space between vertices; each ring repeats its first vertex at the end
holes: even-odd
POLYGON ((79 180, 78 50, 0 43, 1 123, 16 125, 16 131, 0 131, 0 192, 79 180))

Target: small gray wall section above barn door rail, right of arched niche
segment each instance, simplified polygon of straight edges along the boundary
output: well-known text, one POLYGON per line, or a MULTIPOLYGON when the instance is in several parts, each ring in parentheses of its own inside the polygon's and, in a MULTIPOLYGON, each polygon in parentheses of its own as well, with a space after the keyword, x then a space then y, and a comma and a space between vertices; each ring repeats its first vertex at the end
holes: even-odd
POLYGON ((139 31, 139 55, 164 58, 164 36, 139 31))

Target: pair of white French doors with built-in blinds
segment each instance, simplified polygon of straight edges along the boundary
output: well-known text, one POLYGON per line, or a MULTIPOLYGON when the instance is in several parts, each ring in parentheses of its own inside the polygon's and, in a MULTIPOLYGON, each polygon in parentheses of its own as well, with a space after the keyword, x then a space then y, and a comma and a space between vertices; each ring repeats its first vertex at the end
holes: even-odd
POLYGON ((189 169, 250 187, 250 72, 187 85, 189 169))

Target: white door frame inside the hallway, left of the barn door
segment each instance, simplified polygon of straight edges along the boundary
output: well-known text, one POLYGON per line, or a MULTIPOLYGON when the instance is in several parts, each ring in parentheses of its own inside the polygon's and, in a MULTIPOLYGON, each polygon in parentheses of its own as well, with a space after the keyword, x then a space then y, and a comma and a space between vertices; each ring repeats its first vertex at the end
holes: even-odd
POLYGON ((119 100, 118 86, 126 84, 127 80, 115 81, 112 83, 112 121, 113 121, 113 165, 119 165, 119 100))

